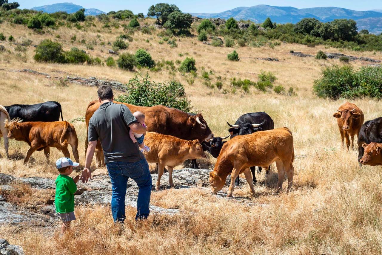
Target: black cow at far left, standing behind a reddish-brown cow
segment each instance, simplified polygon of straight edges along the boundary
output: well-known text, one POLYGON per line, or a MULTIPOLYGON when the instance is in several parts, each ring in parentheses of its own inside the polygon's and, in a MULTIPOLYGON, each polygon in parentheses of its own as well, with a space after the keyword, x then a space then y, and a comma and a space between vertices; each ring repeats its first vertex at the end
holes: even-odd
POLYGON ((20 118, 25 121, 59 121, 62 118, 61 105, 55 101, 47 101, 36 105, 4 106, 11 119, 20 118))

